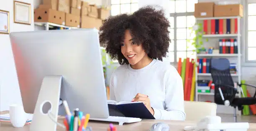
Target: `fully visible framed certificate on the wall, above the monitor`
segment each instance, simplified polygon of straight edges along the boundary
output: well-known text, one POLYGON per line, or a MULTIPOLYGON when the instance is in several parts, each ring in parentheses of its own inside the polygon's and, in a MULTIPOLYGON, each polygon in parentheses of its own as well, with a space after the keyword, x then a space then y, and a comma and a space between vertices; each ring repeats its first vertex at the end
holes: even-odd
POLYGON ((14 23, 31 25, 31 4, 13 1, 14 23))

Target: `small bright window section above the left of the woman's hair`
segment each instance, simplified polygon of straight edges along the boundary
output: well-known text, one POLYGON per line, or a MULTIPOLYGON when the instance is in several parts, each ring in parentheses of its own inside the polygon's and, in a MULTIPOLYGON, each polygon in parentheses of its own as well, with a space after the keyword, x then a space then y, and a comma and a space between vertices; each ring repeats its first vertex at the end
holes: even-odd
POLYGON ((132 13, 138 8, 138 0, 111 0, 111 15, 132 13))

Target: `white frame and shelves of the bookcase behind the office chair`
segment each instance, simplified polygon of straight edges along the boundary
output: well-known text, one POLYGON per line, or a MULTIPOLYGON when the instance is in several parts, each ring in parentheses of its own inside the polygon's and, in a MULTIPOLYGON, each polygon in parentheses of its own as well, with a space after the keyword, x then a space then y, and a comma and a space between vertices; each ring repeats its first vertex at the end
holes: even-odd
MULTIPOLYGON (((220 20, 220 19, 237 19, 237 34, 209 34, 209 35, 202 35, 202 39, 228 39, 228 38, 235 38, 237 40, 238 43, 238 53, 237 54, 196 54, 196 62, 197 59, 200 58, 218 58, 218 57, 226 57, 228 59, 235 59, 236 60, 236 69, 237 72, 236 74, 231 74, 231 76, 233 77, 234 82, 238 82, 240 84, 241 82, 241 30, 240 30, 240 17, 205 17, 205 18, 196 18, 196 23, 202 23, 204 20, 220 20)), ((216 43, 217 45, 219 45, 219 43, 216 43)), ((213 45, 213 43, 211 43, 211 45, 213 45)), ((204 47, 204 44, 203 44, 204 47)), ((197 69, 196 69, 197 70, 197 69)), ((196 101, 200 101, 199 98, 201 99, 202 97, 211 97, 212 99, 214 99, 214 93, 210 92, 198 92, 198 80, 202 80, 202 79, 208 79, 211 80, 211 74, 210 73, 198 73, 196 71, 196 89, 195 89, 195 100, 196 101)), ((238 94, 236 94, 237 97, 241 97, 241 91, 238 88, 238 94)), ((218 105, 219 106, 219 105, 218 105)), ((220 108, 224 108, 224 109, 228 109, 230 110, 230 114, 233 114, 233 110, 231 110, 232 108, 230 107, 225 107, 220 105, 220 108)), ((229 112, 229 111, 227 111, 229 112)), ((218 112, 217 112, 218 113, 218 112)), ((241 115, 241 111, 237 111, 238 115, 241 115)))

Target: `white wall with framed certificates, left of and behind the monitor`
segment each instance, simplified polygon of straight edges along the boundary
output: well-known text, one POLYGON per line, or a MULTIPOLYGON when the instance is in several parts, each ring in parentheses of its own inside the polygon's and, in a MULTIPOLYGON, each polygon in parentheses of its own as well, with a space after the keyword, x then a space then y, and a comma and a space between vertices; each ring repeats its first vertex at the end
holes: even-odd
MULTIPOLYGON (((34 30, 34 1, 18 0, 31 4, 31 25, 13 23, 13 0, 0 0, 0 10, 10 12, 10 32, 34 30)), ((0 111, 8 110, 13 103, 22 104, 9 35, 0 34, 0 111)))

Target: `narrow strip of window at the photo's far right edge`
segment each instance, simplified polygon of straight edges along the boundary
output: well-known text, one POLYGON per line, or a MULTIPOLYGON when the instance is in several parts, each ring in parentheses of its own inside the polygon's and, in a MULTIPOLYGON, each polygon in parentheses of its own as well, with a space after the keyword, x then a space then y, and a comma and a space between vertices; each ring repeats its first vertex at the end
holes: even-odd
POLYGON ((248 3, 248 21, 247 21, 247 61, 254 61, 256 62, 256 42, 255 42, 255 36, 256 36, 256 0, 254 0, 254 3, 248 3))

